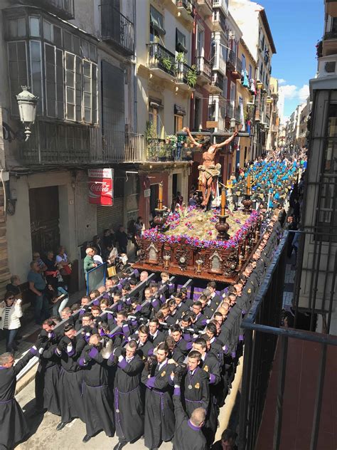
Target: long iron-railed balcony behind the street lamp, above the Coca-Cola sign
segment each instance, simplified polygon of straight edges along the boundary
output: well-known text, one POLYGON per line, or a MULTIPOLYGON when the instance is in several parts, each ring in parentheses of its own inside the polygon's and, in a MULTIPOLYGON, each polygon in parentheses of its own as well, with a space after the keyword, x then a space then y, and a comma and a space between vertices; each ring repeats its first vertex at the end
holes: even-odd
POLYGON ((67 166, 71 164, 144 162, 144 136, 100 128, 38 121, 31 137, 19 147, 19 162, 67 166))

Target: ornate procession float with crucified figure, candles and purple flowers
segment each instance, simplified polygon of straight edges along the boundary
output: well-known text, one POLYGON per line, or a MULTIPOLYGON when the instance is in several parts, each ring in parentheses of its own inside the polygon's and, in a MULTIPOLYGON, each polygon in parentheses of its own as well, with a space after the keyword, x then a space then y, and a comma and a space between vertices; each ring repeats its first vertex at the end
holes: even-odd
MULTIPOLYGON (((163 205, 163 186, 159 184, 155 227, 144 231, 139 239, 139 261, 134 267, 208 281, 236 283, 258 244, 261 218, 258 211, 251 209, 250 177, 247 177, 242 210, 234 211, 230 207, 230 180, 226 185, 222 184, 221 196, 218 196, 219 206, 207 208, 212 192, 213 198, 215 189, 219 192, 220 164, 215 164, 216 152, 230 140, 232 137, 220 144, 210 145, 203 152, 203 164, 198 167, 199 206, 181 206, 178 211, 167 214, 163 205)), ((198 142, 196 145, 203 146, 198 142)))

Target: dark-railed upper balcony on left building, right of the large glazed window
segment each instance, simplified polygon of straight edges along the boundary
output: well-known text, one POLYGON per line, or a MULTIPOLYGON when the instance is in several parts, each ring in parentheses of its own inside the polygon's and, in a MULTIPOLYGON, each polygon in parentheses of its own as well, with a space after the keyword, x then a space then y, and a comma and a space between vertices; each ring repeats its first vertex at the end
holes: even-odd
POLYGON ((123 55, 134 55, 134 24, 109 3, 101 4, 102 41, 123 55))

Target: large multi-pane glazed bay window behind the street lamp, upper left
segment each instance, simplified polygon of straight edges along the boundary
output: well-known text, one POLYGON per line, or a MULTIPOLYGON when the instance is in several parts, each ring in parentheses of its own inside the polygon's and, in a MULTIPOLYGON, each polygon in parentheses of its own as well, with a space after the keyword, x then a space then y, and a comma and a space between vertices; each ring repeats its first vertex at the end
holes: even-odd
POLYGON ((6 23, 12 114, 18 115, 14 95, 29 85, 40 98, 38 115, 96 123, 96 46, 52 19, 26 16, 6 23), (26 41, 18 40, 25 33, 26 41))

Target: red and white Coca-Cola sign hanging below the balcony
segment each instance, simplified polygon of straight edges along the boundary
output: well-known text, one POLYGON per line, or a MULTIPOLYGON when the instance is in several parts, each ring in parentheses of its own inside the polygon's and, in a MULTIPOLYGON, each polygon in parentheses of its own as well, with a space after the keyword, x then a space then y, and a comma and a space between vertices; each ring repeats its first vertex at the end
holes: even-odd
POLYGON ((87 174, 89 203, 112 206, 114 203, 114 169, 90 169, 87 174))

